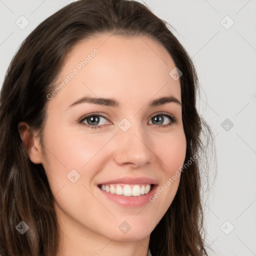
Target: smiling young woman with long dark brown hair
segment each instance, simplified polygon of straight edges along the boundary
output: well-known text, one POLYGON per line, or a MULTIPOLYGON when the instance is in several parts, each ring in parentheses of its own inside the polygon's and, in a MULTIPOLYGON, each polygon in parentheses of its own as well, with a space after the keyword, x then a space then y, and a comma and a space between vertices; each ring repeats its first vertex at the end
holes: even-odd
POLYGON ((78 0, 39 24, 0 95, 1 255, 207 255, 196 90, 139 2, 78 0))

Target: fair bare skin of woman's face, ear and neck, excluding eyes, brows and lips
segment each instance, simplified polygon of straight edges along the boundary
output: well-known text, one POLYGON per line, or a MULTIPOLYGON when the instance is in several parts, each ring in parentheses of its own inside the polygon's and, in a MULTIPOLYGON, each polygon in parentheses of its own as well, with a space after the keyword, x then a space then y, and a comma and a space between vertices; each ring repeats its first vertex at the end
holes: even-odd
POLYGON ((186 151, 181 105, 147 105, 152 99, 170 95, 181 102, 179 80, 169 75, 175 67, 172 58, 147 36, 110 35, 99 34, 79 42, 67 55, 58 82, 83 56, 94 48, 99 50, 48 101, 45 153, 36 133, 28 133, 28 125, 19 123, 30 160, 43 165, 56 200, 61 230, 57 256, 146 256, 150 233, 171 204, 179 184, 177 177, 154 202, 142 207, 122 207, 104 198, 97 187, 102 181, 118 177, 146 176, 157 180, 160 188, 183 164, 186 151), (82 96, 115 98, 120 106, 80 103, 68 108, 82 96), (100 117, 100 128, 86 127, 88 119, 78 123, 82 116, 94 112, 107 116, 100 117), (163 117, 164 124, 170 125, 162 127, 150 118, 159 117, 158 112, 170 113, 177 121, 171 123, 163 117), (118 127, 123 118, 131 123, 125 132, 118 127), (74 183, 67 178, 72 169, 80 175, 74 183), (125 234, 118 229, 123 221, 131 226, 125 234))

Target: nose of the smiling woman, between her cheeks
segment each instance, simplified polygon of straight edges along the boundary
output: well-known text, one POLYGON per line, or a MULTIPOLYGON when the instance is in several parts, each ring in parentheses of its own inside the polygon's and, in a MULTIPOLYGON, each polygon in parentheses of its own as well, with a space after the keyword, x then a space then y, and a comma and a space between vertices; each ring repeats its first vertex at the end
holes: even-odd
POLYGON ((141 167, 153 161, 155 155, 151 147, 150 139, 141 125, 133 124, 126 131, 118 128, 114 160, 118 165, 141 167))

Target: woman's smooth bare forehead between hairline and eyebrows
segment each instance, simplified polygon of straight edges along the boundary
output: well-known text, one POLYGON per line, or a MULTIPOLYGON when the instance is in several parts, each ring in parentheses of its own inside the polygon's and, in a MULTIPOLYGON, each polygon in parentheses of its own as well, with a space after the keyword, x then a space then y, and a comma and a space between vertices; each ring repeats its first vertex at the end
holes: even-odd
POLYGON ((174 67, 167 50, 148 36, 98 34, 80 41, 66 55, 55 83, 62 83, 63 89, 54 100, 68 104, 81 95, 116 95, 120 101, 132 97, 133 102, 141 96, 173 95, 180 100, 179 80, 169 74, 174 67))

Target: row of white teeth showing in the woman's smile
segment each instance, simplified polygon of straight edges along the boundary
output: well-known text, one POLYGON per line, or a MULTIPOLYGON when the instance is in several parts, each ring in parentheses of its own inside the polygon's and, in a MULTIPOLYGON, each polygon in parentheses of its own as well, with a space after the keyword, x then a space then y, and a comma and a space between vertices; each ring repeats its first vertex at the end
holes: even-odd
POLYGON ((128 184, 108 184, 101 185, 101 189, 112 194, 124 195, 124 196, 139 196, 141 194, 147 194, 150 191, 150 184, 146 185, 128 185, 128 184))

